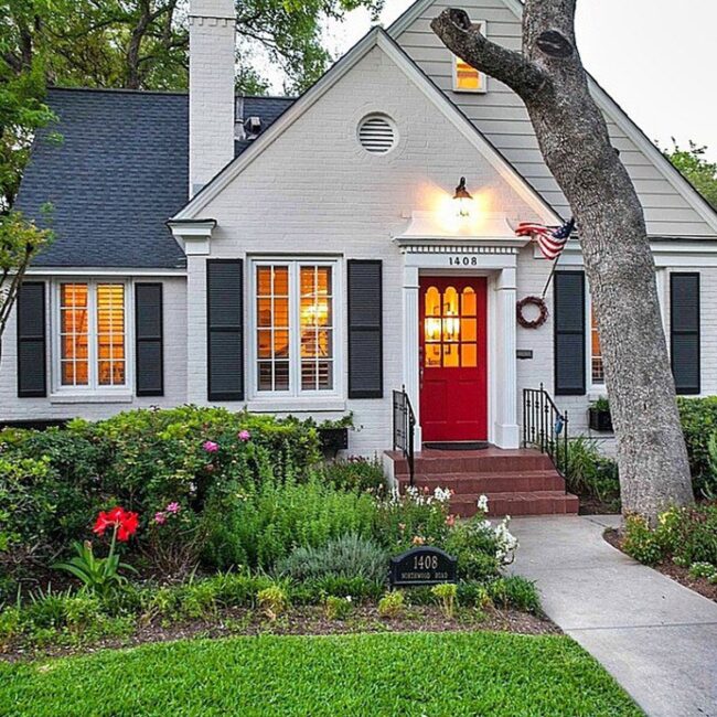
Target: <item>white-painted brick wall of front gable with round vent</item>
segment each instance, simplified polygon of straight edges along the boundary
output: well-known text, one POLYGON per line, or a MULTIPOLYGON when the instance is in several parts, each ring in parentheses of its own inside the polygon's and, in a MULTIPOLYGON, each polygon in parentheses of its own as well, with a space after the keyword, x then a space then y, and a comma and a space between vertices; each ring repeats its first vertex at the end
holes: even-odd
MULTIPOLYGON (((403 257, 392 236, 407 226, 403 213, 432 208, 437 199, 452 194, 463 174, 485 211, 535 218, 422 92, 374 49, 202 211, 218 222, 212 258, 331 253, 341 256, 344 276, 345 259, 383 259, 385 398, 346 402, 360 428, 351 435, 352 452, 390 448, 390 392, 403 381, 403 257), (366 153, 356 139, 358 121, 372 111, 387 113, 398 128, 399 146, 385 157, 366 153)), ((190 257, 189 271, 190 398, 203 403, 204 257, 190 257)), ((345 302, 342 312, 345 325, 345 302)), ((345 331, 342 341, 345 357, 345 331)), ((319 420, 339 415, 309 413, 319 420)))

